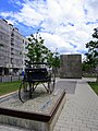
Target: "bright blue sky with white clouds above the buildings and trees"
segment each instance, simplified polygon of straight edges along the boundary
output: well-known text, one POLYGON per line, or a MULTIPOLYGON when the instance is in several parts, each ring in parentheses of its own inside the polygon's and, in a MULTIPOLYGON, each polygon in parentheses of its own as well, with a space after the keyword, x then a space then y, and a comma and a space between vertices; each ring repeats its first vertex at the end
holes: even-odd
POLYGON ((98 27, 98 0, 0 0, 0 19, 25 37, 39 29, 51 51, 84 58, 85 44, 98 27))

